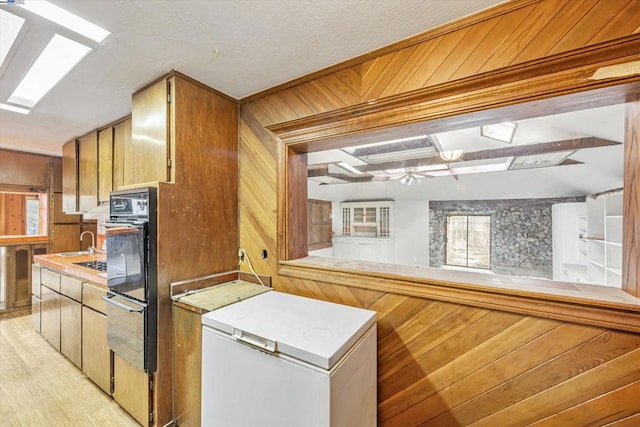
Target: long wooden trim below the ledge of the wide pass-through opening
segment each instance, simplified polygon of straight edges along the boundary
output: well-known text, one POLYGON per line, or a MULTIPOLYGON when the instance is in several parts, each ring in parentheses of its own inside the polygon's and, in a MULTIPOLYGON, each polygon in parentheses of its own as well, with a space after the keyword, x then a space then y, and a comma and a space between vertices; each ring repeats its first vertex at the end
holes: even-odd
MULTIPOLYGON (((611 304, 578 297, 535 294, 473 286, 336 266, 306 260, 281 262, 278 274, 304 280, 339 284, 372 291, 446 301, 535 317, 575 322, 628 332, 640 332, 640 305, 611 304)), ((640 304, 640 303, 639 303, 640 304)))

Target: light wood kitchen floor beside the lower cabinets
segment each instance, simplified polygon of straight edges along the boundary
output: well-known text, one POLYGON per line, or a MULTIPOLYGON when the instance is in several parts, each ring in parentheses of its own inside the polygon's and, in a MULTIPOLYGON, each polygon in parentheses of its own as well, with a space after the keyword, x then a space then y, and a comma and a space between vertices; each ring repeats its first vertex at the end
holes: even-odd
POLYGON ((0 315, 0 424, 139 425, 36 333, 25 311, 0 315))

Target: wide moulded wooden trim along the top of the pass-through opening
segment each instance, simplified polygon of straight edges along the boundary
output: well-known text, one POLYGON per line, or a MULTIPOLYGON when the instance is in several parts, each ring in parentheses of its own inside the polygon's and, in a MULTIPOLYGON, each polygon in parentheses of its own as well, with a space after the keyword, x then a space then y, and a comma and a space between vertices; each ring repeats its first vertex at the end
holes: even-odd
POLYGON ((295 144, 638 82, 639 75, 589 79, 603 66, 639 60, 638 52, 640 34, 634 34, 432 87, 272 124, 267 129, 283 142, 295 144), (517 98, 514 97, 516 94, 517 98), (491 102, 487 102, 488 99, 491 102))

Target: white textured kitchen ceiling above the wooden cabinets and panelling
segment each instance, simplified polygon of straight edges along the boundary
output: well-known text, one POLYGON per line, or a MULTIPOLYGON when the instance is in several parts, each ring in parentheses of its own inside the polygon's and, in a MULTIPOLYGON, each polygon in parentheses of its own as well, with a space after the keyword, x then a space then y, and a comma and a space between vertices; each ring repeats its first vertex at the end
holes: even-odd
MULTIPOLYGON (((29 1, 29 0, 27 0, 29 1)), ((365 54, 503 0, 51 0, 109 30, 24 116, 0 110, 0 147, 46 154, 127 115, 131 93, 175 69, 236 99, 365 54)), ((54 32, 27 18, 0 68, 5 102, 54 32)))

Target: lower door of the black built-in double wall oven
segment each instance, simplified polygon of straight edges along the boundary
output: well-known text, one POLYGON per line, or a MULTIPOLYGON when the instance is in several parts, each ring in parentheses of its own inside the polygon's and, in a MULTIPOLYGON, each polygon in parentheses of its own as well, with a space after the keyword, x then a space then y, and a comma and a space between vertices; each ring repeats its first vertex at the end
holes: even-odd
POLYGON ((147 305, 109 292, 107 344, 115 353, 145 372, 149 369, 147 305))

